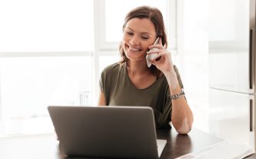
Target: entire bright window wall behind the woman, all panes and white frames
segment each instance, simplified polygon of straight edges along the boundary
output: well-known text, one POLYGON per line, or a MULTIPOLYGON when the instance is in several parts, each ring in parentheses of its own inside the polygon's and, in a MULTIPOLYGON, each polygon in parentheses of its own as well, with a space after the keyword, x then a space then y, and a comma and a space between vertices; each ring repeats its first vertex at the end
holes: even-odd
POLYGON ((169 48, 176 49, 175 4, 0 1, 0 135, 53 132, 47 106, 97 103, 99 75, 120 59, 122 23, 131 8, 159 8, 172 39, 169 48))

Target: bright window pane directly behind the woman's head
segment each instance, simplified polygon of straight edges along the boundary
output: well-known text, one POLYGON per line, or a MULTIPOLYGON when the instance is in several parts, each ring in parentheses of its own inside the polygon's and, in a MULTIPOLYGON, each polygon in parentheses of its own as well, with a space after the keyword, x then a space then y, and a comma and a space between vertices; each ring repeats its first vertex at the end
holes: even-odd
POLYGON ((141 5, 149 5, 160 9, 163 14, 165 24, 167 25, 167 2, 155 0, 129 0, 129 1, 115 1, 105 0, 105 33, 106 42, 118 42, 122 40, 122 26, 125 21, 125 15, 131 9, 141 5), (113 9, 115 4, 115 9, 113 9), (118 13, 118 14, 117 14, 118 13), (115 17, 115 18, 113 18, 115 17))

